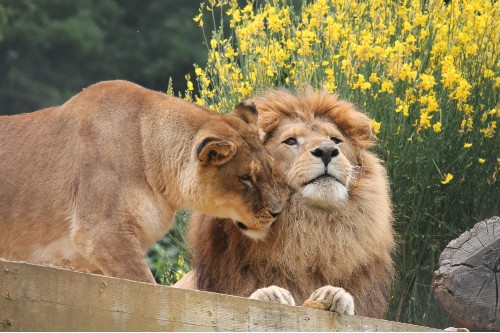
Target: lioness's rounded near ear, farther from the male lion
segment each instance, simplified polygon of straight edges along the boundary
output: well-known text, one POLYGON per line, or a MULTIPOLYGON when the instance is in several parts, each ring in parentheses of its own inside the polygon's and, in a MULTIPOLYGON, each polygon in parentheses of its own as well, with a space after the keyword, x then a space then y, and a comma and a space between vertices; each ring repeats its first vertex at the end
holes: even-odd
POLYGON ((236 150, 236 145, 231 141, 207 137, 198 144, 196 154, 203 165, 223 165, 233 158, 236 150))

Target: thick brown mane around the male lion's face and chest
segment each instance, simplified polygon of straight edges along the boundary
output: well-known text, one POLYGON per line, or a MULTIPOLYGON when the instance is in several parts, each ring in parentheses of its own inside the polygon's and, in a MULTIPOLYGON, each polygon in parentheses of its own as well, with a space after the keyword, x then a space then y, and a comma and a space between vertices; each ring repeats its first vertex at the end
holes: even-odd
MULTIPOLYGON (((389 186, 373 144, 370 118, 325 91, 271 90, 256 99, 266 146, 282 122, 333 122, 361 161, 341 208, 311 208, 292 195, 263 241, 245 237, 229 220, 194 215, 188 244, 200 290, 249 296, 258 288, 288 289, 302 304, 319 287, 343 287, 356 314, 383 317, 393 279, 389 186)), ((277 161, 279 165, 280 161, 277 161)), ((284 170, 290 166, 280 166, 284 170)))

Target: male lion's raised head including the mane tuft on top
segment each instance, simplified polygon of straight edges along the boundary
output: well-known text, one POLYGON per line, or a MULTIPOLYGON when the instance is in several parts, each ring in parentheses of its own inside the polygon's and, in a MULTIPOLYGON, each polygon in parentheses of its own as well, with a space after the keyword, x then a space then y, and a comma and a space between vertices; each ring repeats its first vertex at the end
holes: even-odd
POLYGON ((288 186, 304 204, 332 209, 346 203, 372 144, 370 119, 326 91, 299 95, 272 90, 257 99, 261 139, 288 186))

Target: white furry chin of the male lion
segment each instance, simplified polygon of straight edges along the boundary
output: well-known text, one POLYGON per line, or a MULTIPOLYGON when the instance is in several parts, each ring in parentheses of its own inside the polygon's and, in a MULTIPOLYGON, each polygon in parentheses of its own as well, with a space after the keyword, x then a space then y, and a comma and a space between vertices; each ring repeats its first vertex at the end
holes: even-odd
POLYGON ((333 177, 320 177, 302 188, 303 201, 310 206, 332 209, 345 204, 347 188, 333 177))

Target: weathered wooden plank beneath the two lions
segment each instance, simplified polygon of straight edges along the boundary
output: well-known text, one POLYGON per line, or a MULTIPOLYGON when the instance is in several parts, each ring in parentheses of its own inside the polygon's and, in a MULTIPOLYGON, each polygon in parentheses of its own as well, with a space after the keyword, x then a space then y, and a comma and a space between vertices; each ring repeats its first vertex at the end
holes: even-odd
POLYGON ((437 331, 0 261, 1 331, 437 331))

